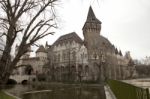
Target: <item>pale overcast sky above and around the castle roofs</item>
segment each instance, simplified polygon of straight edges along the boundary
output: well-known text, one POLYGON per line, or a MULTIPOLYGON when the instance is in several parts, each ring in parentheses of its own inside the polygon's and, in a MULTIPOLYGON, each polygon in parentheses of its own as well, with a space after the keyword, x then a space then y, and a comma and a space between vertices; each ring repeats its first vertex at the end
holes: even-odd
POLYGON ((59 36, 76 32, 82 39, 82 27, 91 5, 102 22, 101 35, 133 58, 150 56, 150 0, 61 0, 56 14, 59 29, 40 43, 52 44, 59 36))

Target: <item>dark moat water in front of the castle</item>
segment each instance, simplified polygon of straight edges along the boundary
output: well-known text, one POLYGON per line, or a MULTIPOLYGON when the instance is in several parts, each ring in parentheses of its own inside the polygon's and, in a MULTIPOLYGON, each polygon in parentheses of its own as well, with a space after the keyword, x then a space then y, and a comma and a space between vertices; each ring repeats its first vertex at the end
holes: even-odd
POLYGON ((103 86, 20 85, 11 89, 12 92, 22 99, 106 99, 103 86))

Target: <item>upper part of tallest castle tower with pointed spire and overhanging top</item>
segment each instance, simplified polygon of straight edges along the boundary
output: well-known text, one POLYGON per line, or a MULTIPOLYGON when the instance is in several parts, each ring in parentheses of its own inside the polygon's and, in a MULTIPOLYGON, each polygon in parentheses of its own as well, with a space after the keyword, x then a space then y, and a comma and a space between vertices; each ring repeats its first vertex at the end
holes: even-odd
POLYGON ((101 21, 96 18, 91 6, 82 30, 85 44, 87 48, 90 48, 96 42, 95 40, 100 35, 101 31, 101 21))

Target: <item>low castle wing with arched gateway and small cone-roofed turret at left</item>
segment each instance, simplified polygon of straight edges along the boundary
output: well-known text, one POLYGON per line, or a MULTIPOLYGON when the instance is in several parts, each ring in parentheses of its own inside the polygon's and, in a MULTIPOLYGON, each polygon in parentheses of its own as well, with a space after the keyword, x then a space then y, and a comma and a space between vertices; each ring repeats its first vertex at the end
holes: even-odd
MULTIPOLYGON (((16 46, 16 52, 17 49, 18 46, 16 46)), ((41 45, 36 51, 35 57, 30 57, 30 52, 31 48, 29 48, 29 51, 21 57, 20 61, 17 63, 17 66, 21 66, 21 68, 15 69, 13 75, 37 75, 43 73, 43 66, 48 62, 47 51, 41 45)))

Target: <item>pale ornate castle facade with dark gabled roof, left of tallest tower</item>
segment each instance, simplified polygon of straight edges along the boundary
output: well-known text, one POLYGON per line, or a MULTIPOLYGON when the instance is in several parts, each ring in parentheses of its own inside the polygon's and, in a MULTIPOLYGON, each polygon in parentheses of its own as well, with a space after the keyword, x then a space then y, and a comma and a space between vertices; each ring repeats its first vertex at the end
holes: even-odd
POLYGON ((81 76, 89 79, 87 75, 88 55, 83 40, 76 33, 61 36, 52 47, 48 49, 50 72, 55 80, 79 80, 81 76))

